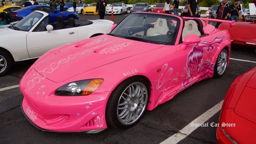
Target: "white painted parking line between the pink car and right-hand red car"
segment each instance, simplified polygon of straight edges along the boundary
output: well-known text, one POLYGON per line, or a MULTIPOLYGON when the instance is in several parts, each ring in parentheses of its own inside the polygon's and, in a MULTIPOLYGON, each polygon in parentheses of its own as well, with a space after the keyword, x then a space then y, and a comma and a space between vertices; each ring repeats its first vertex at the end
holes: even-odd
POLYGON ((201 114, 193 121, 191 121, 190 124, 186 125, 178 133, 170 136, 168 139, 164 140, 160 144, 178 143, 179 141, 183 140, 184 138, 186 138, 188 135, 190 135, 194 130, 196 130, 198 128, 197 126, 193 126, 191 124, 203 124, 208 119, 210 119, 214 114, 216 114, 217 112, 220 111, 222 104, 223 104, 223 100, 220 101, 217 105, 215 105, 211 109, 208 109, 208 111, 201 114))

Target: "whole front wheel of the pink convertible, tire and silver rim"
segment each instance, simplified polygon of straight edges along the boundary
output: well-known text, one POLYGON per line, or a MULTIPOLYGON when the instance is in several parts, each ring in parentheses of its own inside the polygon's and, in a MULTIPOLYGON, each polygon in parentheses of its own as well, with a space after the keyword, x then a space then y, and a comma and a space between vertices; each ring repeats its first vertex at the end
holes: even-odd
POLYGON ((114 128, 134 126, 146 110, 150 86, 143 78, 123 81, 110 95, 106 107, 107 124, 114 128))

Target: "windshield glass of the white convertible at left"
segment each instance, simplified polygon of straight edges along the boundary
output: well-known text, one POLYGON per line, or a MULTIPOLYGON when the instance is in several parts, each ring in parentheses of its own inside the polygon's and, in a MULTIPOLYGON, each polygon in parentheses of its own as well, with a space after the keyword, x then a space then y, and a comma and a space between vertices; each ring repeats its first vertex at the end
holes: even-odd
POLYGON ((44 15, 42 13, 32 12, 10 28, 21 31, 29 31, 43 16, 44 15))

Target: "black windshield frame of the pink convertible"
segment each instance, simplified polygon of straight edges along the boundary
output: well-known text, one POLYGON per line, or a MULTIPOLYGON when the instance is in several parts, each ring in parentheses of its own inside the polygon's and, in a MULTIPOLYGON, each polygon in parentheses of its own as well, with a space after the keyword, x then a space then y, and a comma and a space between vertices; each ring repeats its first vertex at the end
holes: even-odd
MULTIPOLYGON (((132 15, 141 15, 141 14, 145 14, 145 13, 143 13, 143 12, 130 13, 129 16, 132 16, 132 15)), ((159 14, 159 13, 146 13, 146 15, 161 15, 161 14, 159 14)), ((129 16, 127 16, 126 18, 128 18, 129 16)), ((164 15, 164 16, 166 16, 166 17, 171 17, 171 18, 173 18, 173 20, 176 20, 176 22, 177 22, 177 25, 176 25, 176 28, 175 28, 175 33, 174 33, 174 35, 173 35, 172 41, 169 42, 169 43, 166 42, 165 44, 163 44, 163 43, 157 43, 157 42, 147 42, 147 43, 151 43, 151 44, 161 44, 161 45, 175 45, 175 43, 176 43, 176 41, 177 41, 177 38, 178 38, 179 30, 180 30, 180 24, 181 24, 180 19, 179 19, 178 17, 171 16, 171 15, 164 15)), ((124 18, 124 19, 116 26, 116 28, 118 28, 118 26, 119 26, 120 24, 122 24, 123 21, 124 21, 126 18, 124 18)), ((115 28, 115 29, 116 29, 116 28, 115 28)), ((125 38, 125 36, 120 36, 120 35, 116 35, 116 34, 112 33, 113 31, 114 31, 114 30, 112 30, 108 35, 116 36, 116 37, 119 37, 119 38, 125 38)), ((182 30, 181 30, 181 31, 182 31, 182 30)), ((139 37, 138 37, 138 38, 139 38, 139 37)), ((128 38, 127 38, 127 39, 128 39, 128 38)), ((180 39, 180 38, 179 38, 179 39, 180 39)), ((147 39, 145 39, 145 40, 147 40, 147 39)), ((148 40, 148 41, 150 41, 150 40, 148 40)))

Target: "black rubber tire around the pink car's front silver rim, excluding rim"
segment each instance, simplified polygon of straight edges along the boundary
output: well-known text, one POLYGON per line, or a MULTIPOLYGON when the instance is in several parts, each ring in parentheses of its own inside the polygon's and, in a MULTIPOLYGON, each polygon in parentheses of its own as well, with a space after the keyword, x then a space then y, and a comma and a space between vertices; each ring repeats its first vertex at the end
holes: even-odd
POLYGON ((135 78, 126 79, 114 89, 114 91, 110 95, 109 100, 107 101, 107 106, 106 106, 107 125, 110 125, 114 128, 126 129, 126 128, 130 128, 130 127, 136 125, 139 122, 139 120, 142 119, 143 114, 145 113, 146 109, 142 113, 142 116, 140 116, 140 118, 131 125, 122 125, 119 122, 118 117, 117 117, 118 116, 117 115, 117 104, 118 104, 119 98, 121 96, 121 93, 123 93, 123 91, 125 90, 125 88, 127 86, 129 86, 130 84, 135 83, 135 82, 143 83, 147 88, 147 94, 148 94, 148 98, 147 98, 147 102, 146 102, 146 107, 147 107, 147 104, 150 99, 150 85, 143 78, 135 77, 135 78))

